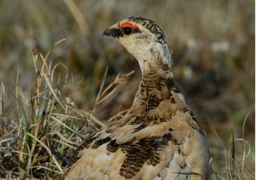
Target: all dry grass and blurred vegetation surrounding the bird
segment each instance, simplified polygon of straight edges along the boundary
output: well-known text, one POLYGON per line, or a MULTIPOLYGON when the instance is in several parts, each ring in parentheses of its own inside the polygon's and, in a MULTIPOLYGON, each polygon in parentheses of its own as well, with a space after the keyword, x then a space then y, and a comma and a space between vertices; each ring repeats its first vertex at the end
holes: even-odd
POLYGON ((253 0, 0 1, 0 178, 56 179, 88 134, 130 107, 137 62, 101 36, 129 16, 166 34, 212 179, 255 179, 253 0))

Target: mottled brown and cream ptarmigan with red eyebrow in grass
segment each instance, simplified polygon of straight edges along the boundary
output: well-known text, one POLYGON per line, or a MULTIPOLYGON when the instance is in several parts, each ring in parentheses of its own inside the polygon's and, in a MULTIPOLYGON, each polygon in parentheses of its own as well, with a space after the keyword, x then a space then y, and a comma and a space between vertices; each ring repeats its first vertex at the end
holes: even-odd
POLYGON ((103 35, 137 59, 141 83, 124 117, 82 142, 61 180, 209 180, 206 134, 173 79, 163 31, 150 19, 128 17, 103 35))

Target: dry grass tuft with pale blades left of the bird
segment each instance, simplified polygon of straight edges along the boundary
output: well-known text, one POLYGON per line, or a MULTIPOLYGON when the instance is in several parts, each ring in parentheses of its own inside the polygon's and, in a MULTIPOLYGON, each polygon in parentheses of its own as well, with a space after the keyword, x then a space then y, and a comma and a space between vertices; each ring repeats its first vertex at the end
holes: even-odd
MULTIPOLYGON (((53 48, 66 39, 53 45, 45 56, 32 52, 35 67, 35 80, 31 84, 30 98, 27 98, 18 86, 19 75, 14 80, 16 108, 9 107, 12 116, 5 117, 4 84, 0 86, 1 123, 0 148, 2 157, 2 178, 58 178, 68 163, 68 159, 77 145, 93 133, 93 130, 105 127, 106 124, 93 115, 93 110, 102 102, 111 99, 113 94, 124 84, 134 71, 127 75, 118 75, 114 82, 104 88, 107 71, 101 89, 92 109, 87 112, 78 109, 72 95, 75 94, 73 84, 68 86, 68 68, 48 61, 53 48), (40 65, 39 65, 40 64, 40 65), (56 75, 59 66, 64 67, 66 75, 56 75), (103 90, 103 91, 102 91, 103 90), (68 92, 66 94, 66 91, 68 92), (80 121, 80 122, 79 122, 80 121), (13 126, 15 125, 16 126, 13 126), (81 128, 81 124, 83 127, 81 128), (84 127, 88 127, 84 130, 84 127)), ((125 113, 123 111, 122 113, 125 113)), ((118 114, 117 116, 119 116, 118 114)))

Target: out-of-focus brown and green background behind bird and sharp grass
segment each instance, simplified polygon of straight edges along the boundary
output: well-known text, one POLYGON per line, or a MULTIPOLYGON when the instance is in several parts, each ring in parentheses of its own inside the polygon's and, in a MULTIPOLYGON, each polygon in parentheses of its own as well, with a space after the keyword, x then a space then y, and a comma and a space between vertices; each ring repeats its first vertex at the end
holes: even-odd
MULTIPOLYGON (((233 130, 234 138, 244 136, 250 143, 245 167, 254 173, 254 0, 0 0, 4 99, 13 99, 17 75, 18 86, 30 98, 35 80, 32 47, 45 55, 57 41, 67 38, 53 49, 49 60, 53 65, 66 65, 66 89, 79 83, 74 87, 77 107, 91 109, 108 67, 104 87, 120 72, 135 73, 94 115, 105 122, 128 109, 141 80, 138 63, 114 38, 102 37, 102 32, 130 16, 151 19, 165 33, 173 51, 177 84, 207 133, 213 169, 221 174, 225 167, 224 150, 216 134, 228 149, 233 130)), ((66 76, 64 68, 57 71, 66 76)), ((237 153, 243 154, 243 148, 237 153)))

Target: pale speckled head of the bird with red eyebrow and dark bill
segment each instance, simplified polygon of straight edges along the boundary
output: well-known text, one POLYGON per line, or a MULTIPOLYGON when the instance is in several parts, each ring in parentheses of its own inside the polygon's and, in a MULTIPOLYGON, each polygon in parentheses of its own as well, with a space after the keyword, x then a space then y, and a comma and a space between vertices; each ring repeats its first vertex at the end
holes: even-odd
POLYGON ((152 69, 172 68, 172 50, 163 31, 149 19, 129 17, 106 29, 102 35, 112 36, 139 62, 142 75, 152 69))

